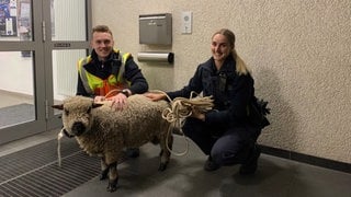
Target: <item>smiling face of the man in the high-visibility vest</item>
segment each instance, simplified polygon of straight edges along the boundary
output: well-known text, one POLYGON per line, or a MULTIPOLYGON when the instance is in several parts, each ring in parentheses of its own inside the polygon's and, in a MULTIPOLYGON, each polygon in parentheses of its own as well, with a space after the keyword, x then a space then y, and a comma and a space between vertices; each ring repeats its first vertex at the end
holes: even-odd
POLYGON ((113 50, 114 40, 109 32, 94 32, 90 44, 98 54, 99 59, 105 60, 113 50))

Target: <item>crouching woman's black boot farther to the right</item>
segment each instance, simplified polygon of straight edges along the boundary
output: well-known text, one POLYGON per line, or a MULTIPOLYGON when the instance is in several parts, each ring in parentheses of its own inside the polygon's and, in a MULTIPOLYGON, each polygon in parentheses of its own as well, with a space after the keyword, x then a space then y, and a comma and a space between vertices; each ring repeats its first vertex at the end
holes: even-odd
POLYGON ((260 154, 261 154, 261 149, 257 144, 254 144, 247 161, 241 164, 239 169, 239 173, 241 175, 254 174, 254 172, 257 171, 257 165, 258 165, 258 160, 260 158, 260 154))

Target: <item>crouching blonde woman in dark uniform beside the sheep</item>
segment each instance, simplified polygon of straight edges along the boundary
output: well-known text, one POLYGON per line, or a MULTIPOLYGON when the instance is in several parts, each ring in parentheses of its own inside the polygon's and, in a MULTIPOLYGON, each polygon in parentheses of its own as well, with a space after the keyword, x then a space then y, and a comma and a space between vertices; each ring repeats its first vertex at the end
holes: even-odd
MULTIPOLYGON (((212 36, 212 57, 201 63, 189 84, 170 99, 190 97, 191 92, 212 95, 214 109, 206 114, 193 112, 186 118, 183 132, 208 155, 204 170, 241 164, 240 174, 253 174, 260 149, 256 144, 261 128, 250 123, 248 105, 254 97, 253 79, 235 50, 235 35, 227 28, 212 36)), ((152 101, 166 95, 146 93, 152 101)))

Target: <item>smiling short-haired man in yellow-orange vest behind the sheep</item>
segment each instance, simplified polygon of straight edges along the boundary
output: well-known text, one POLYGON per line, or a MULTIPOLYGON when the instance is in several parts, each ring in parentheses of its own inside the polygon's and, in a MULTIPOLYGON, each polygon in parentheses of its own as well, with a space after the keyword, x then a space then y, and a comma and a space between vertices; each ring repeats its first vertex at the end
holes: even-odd
MULTIPOLYGON (((109 100, 116 109, 123 109, 132 94, 145 93, 148 83, 131 54, 114 48, 112 31, 106 25, 92 30, 92 53, 78 61, 77 95, 93 97, 95 102, 109 100)), ((136 158, 139 149, 128 149, 136 158)))

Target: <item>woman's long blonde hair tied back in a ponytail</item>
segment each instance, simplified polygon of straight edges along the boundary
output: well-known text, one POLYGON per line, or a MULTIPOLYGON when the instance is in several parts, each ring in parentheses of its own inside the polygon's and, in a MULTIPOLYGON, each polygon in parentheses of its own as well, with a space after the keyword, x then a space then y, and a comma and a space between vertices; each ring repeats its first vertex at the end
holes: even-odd
MULTIPOLYGON (((233 58, 235 59, 236 61, 236 71, 237 73, 240 76, 240 74, 248 74, 248 73, 251 73, 250 69, 248 68, 248 66, 245 63, 245 61, 238 56, 236 49, 235 49, 235 34, 228 30, 228 28, 222 28, 217 32, 215 32, 213 34, 213 36, 217 35, 217 34, 222 34, 224 35, 230 47, 231 47, 231 55, 233 55, 233 58)), ((213 37, 212 36, 212 37, 213 37)))

